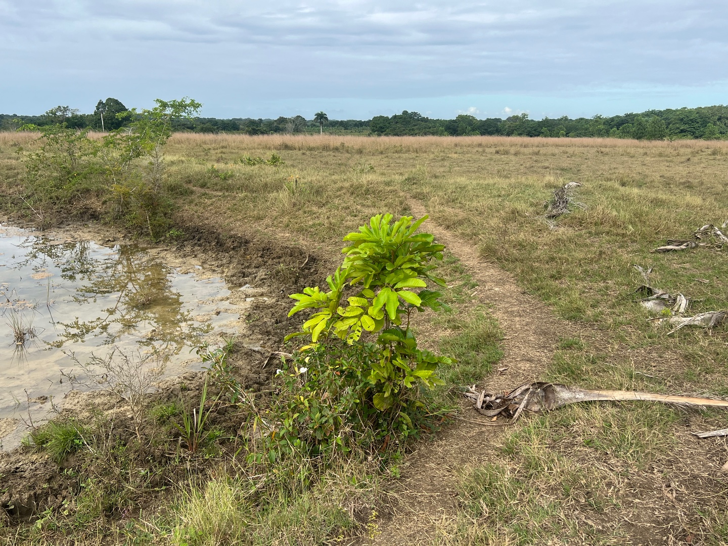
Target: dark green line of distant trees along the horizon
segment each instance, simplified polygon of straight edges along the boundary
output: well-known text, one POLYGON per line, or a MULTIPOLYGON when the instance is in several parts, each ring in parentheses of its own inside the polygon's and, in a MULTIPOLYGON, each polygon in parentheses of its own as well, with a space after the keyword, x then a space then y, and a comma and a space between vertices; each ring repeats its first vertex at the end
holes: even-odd
MULTIPOLYGON (((68 106, 58 106, 39 116, 0 114, 0 130, 14 130, 22 124, 43 126, 66 123, 68 127, 92 129, 116 129, 126 120, 116 114, 127 108, 114 98, 99 100, 93 114, 79 114, 68 106), (102 122, 103 117, 103 122, 102 122)), ((232 118, 217 119, 196 117, 175 122, 175 130, 189 132, 229 132, 247 135, 275 133, 319 132, 319 123, 303 116, 277 119, 232 118)), ((360 135, 506 135, 529 137, 610 137, 636 138, 638 140, 662 140, 678 138, 728 139, 728 106, 704 106, 648 110, 639 114, 621 116, 594 116, 570 119, 529 119, 528 114, 506 119, 477 119, 459 115, 455 119, 431 119, 417 112, 403 111, 394 116, 375 116, 372 119, 330 119, 323 125, 324 132, 360 135)))

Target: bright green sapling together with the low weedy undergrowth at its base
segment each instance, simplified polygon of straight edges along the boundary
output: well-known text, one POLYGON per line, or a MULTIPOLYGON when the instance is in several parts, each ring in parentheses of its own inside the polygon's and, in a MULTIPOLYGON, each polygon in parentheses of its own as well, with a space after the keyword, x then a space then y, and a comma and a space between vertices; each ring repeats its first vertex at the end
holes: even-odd
POLYGON ((444 247, 432 234, 416 233, 426 219, 404 216, 392 223, 392 215, 374 216, 344 237, 349 246, 327 278, 328 291, 305 288, 290 296, 297 303, 289 316, 314 313, 287 337, 305 336, 309 343, 279 372, 279 447, 386 444, 392 434, 406 437, 432 416, 420 387, 441 384, 435 372, 452 360, 419 349, 410 327, 414 312, 446 307, 439 292, 427 289, 427 282, 444 285, 433 263, 443 259, 444 247))

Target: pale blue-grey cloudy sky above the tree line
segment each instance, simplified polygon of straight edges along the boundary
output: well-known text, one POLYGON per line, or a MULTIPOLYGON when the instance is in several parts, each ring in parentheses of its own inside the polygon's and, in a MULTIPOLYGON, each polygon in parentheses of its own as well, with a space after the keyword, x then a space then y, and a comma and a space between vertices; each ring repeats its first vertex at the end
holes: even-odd
POLYGON ((0 113, 614 115, 728 104, 726 0, 0 0, 0 113))

